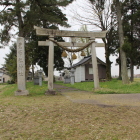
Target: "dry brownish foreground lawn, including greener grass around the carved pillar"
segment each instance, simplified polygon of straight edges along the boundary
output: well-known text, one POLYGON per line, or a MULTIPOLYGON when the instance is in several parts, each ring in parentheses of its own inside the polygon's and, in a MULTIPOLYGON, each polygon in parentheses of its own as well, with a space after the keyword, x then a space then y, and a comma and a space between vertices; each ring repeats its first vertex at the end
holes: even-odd
POLYGON ((15 90, 0 85, 0 140, 140 139, 139 107, 103 108, 45 96, 45 83, 27 83, 29 96, 14 96, 15 90))

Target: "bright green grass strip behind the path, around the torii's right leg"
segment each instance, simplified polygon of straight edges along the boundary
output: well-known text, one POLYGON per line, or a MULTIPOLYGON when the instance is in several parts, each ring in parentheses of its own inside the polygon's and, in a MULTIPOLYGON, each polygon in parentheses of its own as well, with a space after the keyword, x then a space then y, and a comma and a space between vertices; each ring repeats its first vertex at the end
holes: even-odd
MULTIPOLYGON (((94 83, 91 82, 81 82, 71 84, 63 84, 62 82, 57 82, 57 84, 65 85, 68 87, 74 87, 85 91, 94 91, 94 83)), ((125 93, 140 93, 140 79, 136 79, 133 83, 129 85, 123 85, 121 80, 113 79, 112 81, 100 82, 101 89, 94 91, 98 94, 125 94, 125 93)))

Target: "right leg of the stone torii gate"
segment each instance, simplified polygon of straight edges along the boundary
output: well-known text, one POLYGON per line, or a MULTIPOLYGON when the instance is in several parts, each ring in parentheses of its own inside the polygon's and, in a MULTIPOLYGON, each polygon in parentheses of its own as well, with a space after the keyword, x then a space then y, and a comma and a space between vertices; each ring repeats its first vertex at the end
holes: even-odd
MULTIPOLYGON (((91 38, 91 41, 95 40, 95 38, 91 38)), ((93 67, 93 75, 94 75, 94 89, 99 89, 99 75, 98 75, 98 65, 97 65, 97 57, 95 50, 95 42, 91 44, 91 53, 92 53, 92 67, 93 67)))

